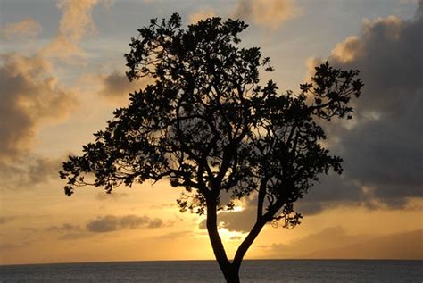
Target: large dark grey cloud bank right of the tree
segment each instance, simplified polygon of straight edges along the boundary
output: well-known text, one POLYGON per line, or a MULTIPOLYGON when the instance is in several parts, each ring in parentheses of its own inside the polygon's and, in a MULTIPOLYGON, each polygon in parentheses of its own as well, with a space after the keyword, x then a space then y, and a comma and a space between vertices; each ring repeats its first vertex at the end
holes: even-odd
MULTIPOLYGON (((419 11, 422 6, 419 2, 419 11)), ((354 101, 352 123, 325 125, 332 152, 344 158, 343 178, 323 178, 300 208, 311 213, 339 204, 402 208, 423 197, 421 30, 421 12, 408 21, 366 20, 361 37, 347 37, 334 48, 329 62, 360 70, 365 86, 354 101)))

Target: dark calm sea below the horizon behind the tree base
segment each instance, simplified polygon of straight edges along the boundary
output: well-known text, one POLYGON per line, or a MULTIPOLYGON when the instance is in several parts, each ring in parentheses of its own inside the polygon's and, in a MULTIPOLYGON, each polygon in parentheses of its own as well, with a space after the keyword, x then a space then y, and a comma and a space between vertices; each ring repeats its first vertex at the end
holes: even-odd
MULTIPOLYGON (((224 282, 213 261, 0 266, 1 282, 224 282)), ((245 261, 242 282, 423 282, 423 261, 245 261)))

